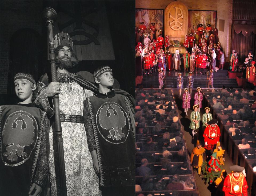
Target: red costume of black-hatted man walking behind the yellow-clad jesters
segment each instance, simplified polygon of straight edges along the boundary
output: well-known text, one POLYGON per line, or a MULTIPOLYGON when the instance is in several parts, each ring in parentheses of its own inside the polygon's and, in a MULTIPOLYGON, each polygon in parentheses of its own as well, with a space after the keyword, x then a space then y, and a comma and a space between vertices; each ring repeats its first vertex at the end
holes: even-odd
POLYGON ((205 131, 203 132, 205 143, 207 142, 207 145, 205 145, 204 148, 207 150, 213 150, 214 145, 218 143, 220 136, 221 136, 221 131, 219 130, 219 126, 215 124, 215 127, 212 127, 209 124, 205 128, 205 131))

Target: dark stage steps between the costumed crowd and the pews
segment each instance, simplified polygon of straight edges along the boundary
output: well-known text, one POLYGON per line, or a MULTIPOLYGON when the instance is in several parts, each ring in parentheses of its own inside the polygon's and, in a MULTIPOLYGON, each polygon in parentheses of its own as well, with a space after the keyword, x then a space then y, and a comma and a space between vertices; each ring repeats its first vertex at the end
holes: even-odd
MULTIPOLYGON (((177 88, 177 77, 179 72, 175 71, 166 71, 166 79, 163 80, 163 87, 166 88, 177 88)), ((184 80, 183 87, 186 87, 186 81, 187 77, 189 76, 189 72, 181 71, 182 77, 184 80)), ((193 73, 194 77, 194 88, 200 86, 201 88, 207 88, 206 85, 206 75, 200 75, 193 73)), ((235 78, 229 78, 227 70, 218 70, 217 72, 214 71, 213 73, 213 87, 214 88, 222 88, 223 85, 226 86, 226 88, 229 88, 230 86, 238 87, 237 80, 235 78)), ((158 83, 158 73, 153 73, 153 75, 146 75, 143 76, 142 84, 144 88, 150 88, 151 85, 153 85, 154 88, 157 88, 159 86, 158 83)))

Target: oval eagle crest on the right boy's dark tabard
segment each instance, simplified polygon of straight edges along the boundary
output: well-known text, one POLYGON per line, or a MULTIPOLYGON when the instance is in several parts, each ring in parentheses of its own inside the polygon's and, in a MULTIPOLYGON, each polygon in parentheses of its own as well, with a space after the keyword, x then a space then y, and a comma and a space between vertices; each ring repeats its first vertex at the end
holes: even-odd
POLYGON ((125 142, 130 130, 126 111, 115 102, 106 102, 97 112, 97 128, 108 142, 120 144, 125 142))

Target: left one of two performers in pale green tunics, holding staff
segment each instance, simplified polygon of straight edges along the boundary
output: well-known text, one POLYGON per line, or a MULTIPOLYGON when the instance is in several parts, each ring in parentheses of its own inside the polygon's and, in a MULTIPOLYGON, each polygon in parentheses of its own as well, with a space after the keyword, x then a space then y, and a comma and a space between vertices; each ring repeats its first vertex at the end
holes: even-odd
POLYGON ((193 109, 194 109, 194 111, 192 111, 190 114, 191 123, 190 123, 189 128, 192 129, 192 140, 194 139, 195 135, 198 140, 198 131, 199 131, 201 118, 200 118, 200 113, 198 111, 198 106, 194 105, 193 109))

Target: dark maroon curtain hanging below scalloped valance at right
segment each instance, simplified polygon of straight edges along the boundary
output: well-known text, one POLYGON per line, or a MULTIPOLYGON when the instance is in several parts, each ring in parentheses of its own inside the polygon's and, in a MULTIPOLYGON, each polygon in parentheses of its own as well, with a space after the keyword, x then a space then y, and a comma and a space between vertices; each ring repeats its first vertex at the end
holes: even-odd
POLYGON ((236 33, 235 28, 232 28, 231 35, 231 53, 232 49, 238 52, 238 60, 243 63, 245 58, 248 56, 249 51, 252 51, 253 60, 256 56, 256 34, 251 32, 249 36, 244 36, 243 32, 236 33))

